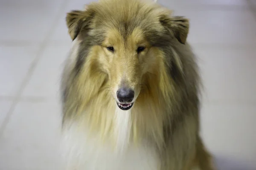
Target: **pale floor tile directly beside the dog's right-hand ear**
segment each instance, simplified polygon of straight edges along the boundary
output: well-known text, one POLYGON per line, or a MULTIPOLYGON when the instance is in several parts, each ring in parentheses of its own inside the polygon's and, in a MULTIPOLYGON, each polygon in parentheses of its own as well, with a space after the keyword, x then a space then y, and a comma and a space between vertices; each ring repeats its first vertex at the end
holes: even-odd
POLYGON ((189 18, 188 41, 191 43, 219 43, 253 45, 256 40, 256 21, 246 10, 219 11, 200 8, 175 10, 174 15, 189 18))

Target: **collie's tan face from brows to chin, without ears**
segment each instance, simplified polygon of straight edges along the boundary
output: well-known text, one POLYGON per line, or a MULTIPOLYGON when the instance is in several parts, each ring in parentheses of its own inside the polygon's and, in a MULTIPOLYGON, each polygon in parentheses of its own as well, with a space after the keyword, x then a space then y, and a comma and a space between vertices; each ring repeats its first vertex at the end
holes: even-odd
POLYGON ((151 45, 139 27, 125 37, 122 31, 110 28, 101 49, 99 60, 108 73, 113 96, 119 108, 128 110, 140 94, 143 74, 154 60, 148 54, 151 45))

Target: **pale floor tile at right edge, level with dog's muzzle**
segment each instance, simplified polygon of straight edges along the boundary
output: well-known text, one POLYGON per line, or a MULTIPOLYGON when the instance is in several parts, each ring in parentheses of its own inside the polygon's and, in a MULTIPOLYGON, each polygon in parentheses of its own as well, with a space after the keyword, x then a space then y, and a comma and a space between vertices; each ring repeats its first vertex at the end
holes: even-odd
POLYGON ((256 50, 195 46, 206 99, 215 102, 256 102, 256 50))

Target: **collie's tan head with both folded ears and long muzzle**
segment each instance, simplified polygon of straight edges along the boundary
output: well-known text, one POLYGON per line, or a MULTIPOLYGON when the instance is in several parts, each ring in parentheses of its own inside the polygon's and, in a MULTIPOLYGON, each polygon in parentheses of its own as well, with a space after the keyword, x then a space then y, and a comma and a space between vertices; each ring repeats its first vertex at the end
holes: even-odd
POLYGON ((154 74, 163 49, 174 41, 184 44, 189 29, 186 18, 140 0, 101 0, 66 19, 70 37, 81 41, 77 69, 93 56, 122 110, 132 107, 143 76, 154 74))

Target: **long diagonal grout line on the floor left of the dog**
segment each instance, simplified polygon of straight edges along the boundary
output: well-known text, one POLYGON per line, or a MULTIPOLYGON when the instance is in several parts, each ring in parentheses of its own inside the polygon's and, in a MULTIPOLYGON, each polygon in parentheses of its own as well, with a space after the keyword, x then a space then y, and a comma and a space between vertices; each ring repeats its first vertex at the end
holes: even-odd
POLYGON ((61 3, 59 11, 58 11, 58 13, 55 17, 54 22, 53 22, 53 26, 51 26, 49 28, 49 31, 48 31, 47 35, 45 36, 43 42, 41 43, 41 47, 38 50, 38 52, 35 56, 35 59, 32 61, 32 64, 29 67, 29 70, 28 70, 28 73, 26 74, 26 77, 23 79, 23 82, 21 83, 20 88, 17 91, 17 94, 14 98, 14 101, 12 102, 12 105, 11 105, 9 111, 6 114, 6 117, 5 117, 4 121, 3 121, 2 125, 0 126, 0 139, 3 136, 3 132, 6 128, 6 125, 8 125, 8 123, 9 123, 9 120, 10 120, 12 114, 13 114, 13 111, 14 111, 17 103, 20 101, 20 96, 21 96, 23 90, 26 88, 26 85, 29 82, 29 79, 32 77, 32 74, 33 74, 33 72, 36 68, 36 65, 38 64, 38 62, 41 58, 41 55, 43 54, 45 48, 47 47, 47 43, 49 42, 50 37, 52 36, 52 34, 54 33, 55 29, 58 26, 58 20, 61 18, 62 12, 64 11, 68 2, 69 2, 69 0, 63 0, 63 2, 61 3))

